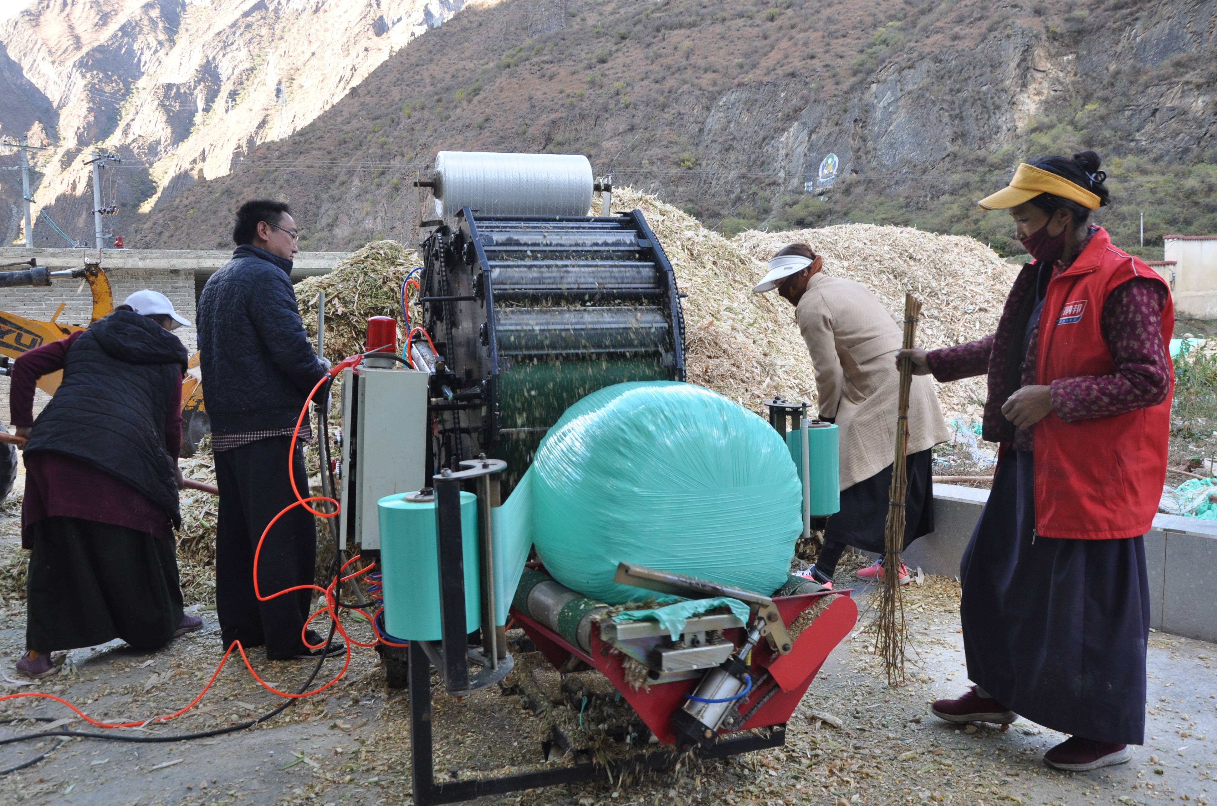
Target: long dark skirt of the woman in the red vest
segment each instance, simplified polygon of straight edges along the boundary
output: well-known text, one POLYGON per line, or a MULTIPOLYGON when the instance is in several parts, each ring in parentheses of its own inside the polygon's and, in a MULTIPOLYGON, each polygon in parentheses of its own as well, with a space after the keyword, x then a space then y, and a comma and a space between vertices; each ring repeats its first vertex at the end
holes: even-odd
POLYGON ((1142 744, 1144 541, 1033 536, 1034 524, 1033 457, 1011 451, 959 569, 968 676, 1054 731, 1142 744))

